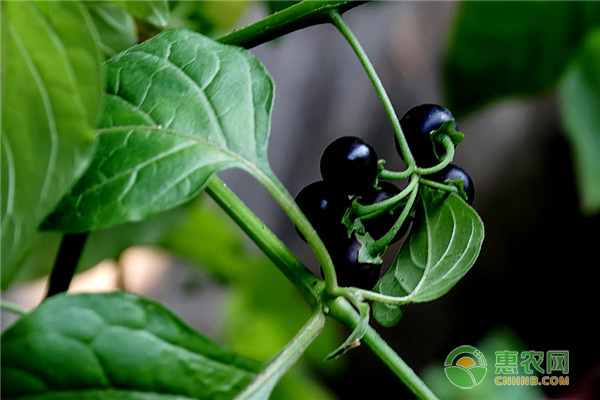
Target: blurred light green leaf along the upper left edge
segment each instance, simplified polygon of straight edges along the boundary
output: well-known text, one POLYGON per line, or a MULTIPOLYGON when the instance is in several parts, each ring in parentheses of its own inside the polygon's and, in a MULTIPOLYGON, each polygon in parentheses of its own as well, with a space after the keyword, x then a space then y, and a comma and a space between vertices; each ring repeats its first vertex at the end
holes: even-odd
POLYGON ((79 2, 2 2, 2 286, 87 166, 101 53, 79 2))

